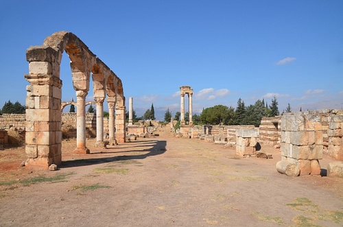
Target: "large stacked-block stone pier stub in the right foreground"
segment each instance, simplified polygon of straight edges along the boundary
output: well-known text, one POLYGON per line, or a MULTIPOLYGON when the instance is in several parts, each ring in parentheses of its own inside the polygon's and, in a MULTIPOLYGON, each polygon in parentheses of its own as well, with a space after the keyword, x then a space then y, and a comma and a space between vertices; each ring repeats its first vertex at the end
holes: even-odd
POLYGON ((320 175, 323 156, 321 110, 288 113, 281 119, 281 161, 294 163, 300 176, 320 175))

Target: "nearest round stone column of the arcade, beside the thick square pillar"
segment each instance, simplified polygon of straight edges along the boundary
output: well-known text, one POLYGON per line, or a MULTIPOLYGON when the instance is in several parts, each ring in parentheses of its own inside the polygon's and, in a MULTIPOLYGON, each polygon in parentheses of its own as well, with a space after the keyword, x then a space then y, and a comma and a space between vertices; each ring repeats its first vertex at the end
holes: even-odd
POLYGON ((86 107, 85 99, 88 93, 86 91, 76 91, 76 148, 74 153, 89 154, 86 147, 86 107))

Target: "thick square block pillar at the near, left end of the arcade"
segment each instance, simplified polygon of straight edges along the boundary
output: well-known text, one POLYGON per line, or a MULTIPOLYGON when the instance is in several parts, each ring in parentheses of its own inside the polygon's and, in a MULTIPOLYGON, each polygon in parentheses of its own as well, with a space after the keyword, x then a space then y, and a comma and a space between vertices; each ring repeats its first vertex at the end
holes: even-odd
POLYGON ((26 86, 25 167, 48 169, 62 160, 61 97, 59 58, 51 47, 29 47, 26 60, 29 74, 26 86))

